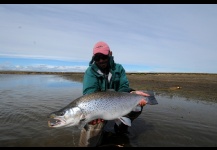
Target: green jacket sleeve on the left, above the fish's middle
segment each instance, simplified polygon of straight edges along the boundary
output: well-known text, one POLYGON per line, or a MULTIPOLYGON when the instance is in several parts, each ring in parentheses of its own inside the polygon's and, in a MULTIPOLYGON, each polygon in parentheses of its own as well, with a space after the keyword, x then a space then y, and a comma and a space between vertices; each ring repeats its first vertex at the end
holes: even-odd
POLYGON ((90 71, 90 68, 87 69, 83 77, 83 95, 90 94, 99 90, 99 81, 97 80, 96 76, 90 71))

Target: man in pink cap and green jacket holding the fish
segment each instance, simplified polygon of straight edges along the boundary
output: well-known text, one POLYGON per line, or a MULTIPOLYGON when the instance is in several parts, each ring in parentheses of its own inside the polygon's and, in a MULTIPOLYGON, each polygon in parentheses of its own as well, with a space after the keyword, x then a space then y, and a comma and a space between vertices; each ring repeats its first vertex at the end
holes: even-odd
MULTIPOLYGON (((113 89, 117 92, 136 93, 143 96, 149 94, 141 91, 135 91, 129 87, 125 69, 121 64, 114 62, 112 51, 107 43, 100 41, 94 45, 93 57, 89 63, 89 67, 85 71, 83 78, 83 95, 97 91, 106 91, 113 89)), ((125 117, 128 117, 131 122, 137 118, 147 101, 142 99, 137 110, 130 112, 125 117)), ((96 119, 89 122, 81 131, 79 146, 98 146, 102 139, 102 129, 107 121, 96 119)), ((127 133, 128 126, 116 122, 114 130, 117 134, 127 133)))

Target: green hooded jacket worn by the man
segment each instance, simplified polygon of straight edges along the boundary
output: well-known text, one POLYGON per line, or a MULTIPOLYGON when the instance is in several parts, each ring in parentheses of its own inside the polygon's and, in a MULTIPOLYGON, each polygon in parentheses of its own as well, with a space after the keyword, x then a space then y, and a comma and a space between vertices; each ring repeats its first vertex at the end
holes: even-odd
POLYGON ((99 70, 93 59, 90 61, 83 77, 83 95, 96 91, 106 91, 107 89, 114 89, 118 92, 131 92, 133 90, 129 87, 123 66, 115 63, 113 56, 110 56, 109 63, 110 73, 106 76, 99 70))

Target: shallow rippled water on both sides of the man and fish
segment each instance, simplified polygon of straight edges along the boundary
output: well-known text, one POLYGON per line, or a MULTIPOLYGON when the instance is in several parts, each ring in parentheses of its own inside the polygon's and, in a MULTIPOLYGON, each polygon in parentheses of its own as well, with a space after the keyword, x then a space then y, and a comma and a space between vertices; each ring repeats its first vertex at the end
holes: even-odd
MULTIPOLYGON (((47 115, 81 95, 81 83, 57 75, 0 74, 0 146, 78 146, 80 131, 49 128, 47 115)), ((162 93, 155 97, 159 104, 144 107, 125 146, 217 146, 216 103, 162 93)))

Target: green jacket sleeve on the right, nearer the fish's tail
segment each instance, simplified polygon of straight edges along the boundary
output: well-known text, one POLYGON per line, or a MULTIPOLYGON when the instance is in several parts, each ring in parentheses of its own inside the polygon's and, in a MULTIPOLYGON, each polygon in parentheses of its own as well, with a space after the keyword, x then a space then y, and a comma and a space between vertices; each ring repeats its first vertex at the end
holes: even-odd
POLYGON ((128 81, 128 78, 127 78, 127 75, 126 75, 126 72, 123 66, 120 65, 118 70, 120 70, 120 83, 119 83, 118 91, 119 92, 134 91, 133 89, 129 87, 129 81, 128 81))

